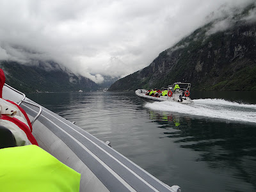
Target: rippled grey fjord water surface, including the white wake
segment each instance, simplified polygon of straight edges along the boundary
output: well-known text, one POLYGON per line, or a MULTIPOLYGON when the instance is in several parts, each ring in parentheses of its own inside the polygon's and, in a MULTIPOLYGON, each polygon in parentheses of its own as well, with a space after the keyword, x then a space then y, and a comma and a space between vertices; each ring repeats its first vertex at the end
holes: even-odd
POLYGON ((27 97, 110 141, 169 186, 256 191, 255 92, 196 92, 192 104, 149 103, 133 92, 27 97))

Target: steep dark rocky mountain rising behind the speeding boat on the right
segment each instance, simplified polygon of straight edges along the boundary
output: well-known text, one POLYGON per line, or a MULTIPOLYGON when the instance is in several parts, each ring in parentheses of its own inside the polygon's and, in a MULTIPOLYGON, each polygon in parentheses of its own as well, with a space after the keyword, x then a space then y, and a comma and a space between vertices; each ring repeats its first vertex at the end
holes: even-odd
POLYGON ((196 29, 109 91, 162 88, 179 81, 191 83, 193 90, 256 91, 255 12, 251 5, 232 18, 196 29))

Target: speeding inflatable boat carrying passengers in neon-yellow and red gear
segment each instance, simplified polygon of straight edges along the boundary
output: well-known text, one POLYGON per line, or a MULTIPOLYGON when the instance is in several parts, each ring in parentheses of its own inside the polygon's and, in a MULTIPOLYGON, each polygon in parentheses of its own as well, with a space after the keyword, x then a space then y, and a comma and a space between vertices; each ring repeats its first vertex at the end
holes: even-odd
POLYGON ((191 103, 193 100, 189 97, 190 88, 190 83, 177 82, 169 85, 168 88, 161 88, 161 90, 138 89, 135 93, 138 97, 145 100, 191 103))

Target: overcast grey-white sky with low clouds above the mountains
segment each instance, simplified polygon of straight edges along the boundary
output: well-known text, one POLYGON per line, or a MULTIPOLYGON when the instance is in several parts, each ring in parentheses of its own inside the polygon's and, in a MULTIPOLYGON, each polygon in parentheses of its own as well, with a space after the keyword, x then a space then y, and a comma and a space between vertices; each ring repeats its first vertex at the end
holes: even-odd
POLYGON ((100 83, 147 67, 196 28, 253 2, 0 0, 0 60, 52 60, 100 83))

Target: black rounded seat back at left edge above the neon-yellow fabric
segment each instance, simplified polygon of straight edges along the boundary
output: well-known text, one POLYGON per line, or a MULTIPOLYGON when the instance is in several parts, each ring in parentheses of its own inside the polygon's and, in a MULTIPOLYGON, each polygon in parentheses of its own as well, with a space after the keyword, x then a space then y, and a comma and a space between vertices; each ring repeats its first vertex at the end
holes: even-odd
POLYGON ((0 125, 0 148, 17 147, 12 132, 6 127, 0 125))

